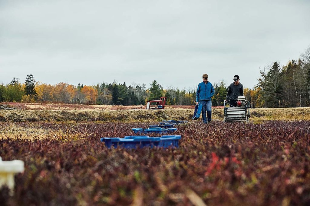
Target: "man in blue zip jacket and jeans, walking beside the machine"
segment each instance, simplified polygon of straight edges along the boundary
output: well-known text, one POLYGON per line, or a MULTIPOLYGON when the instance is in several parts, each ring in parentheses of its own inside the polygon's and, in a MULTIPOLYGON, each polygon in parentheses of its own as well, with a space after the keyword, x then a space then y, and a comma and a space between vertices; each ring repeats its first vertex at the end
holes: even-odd
POLYGON ((196 92, 196 104, 198 104, 198 102, 202 104, 202 121, 205 124, 211 121, 211 97, 213 97, 215 93, 213 85, 208 81, 208 78, 208 74, 202 75, 203 82, 198 84, 196 92), (208 122, 206 120, 206 113, 208 114, 208 122))

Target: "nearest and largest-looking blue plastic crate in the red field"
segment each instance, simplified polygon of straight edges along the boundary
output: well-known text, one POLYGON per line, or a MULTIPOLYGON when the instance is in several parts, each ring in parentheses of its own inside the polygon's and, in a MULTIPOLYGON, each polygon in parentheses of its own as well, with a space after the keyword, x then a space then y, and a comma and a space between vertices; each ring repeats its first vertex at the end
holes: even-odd
POLYGON ((127 149, 136 149, 142 147, 179 147, 179 139, 181 135, 163 135, 162 137, 149 137, 149 136, 125 136, 124 138, 119 137, 102 137, 101 142, 111 148, 122 146, 127 149))

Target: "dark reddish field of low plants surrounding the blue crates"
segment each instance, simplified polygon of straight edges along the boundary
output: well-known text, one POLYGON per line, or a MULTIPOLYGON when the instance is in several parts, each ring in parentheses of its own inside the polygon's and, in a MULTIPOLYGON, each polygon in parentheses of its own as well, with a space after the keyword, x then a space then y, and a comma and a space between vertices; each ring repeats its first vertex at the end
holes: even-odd
POLYGON ((0 205, 310 203, 310 121, 190 121, 175 149, 100 143, 157 123, 0 122, 2 160, 25 162, 0 205))

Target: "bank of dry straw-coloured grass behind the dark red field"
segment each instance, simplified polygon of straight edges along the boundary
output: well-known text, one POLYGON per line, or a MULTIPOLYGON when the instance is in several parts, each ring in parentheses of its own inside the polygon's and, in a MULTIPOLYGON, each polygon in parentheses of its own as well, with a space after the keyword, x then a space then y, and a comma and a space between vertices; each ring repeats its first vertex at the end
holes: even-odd
MULTIPOLYGON (((257 108, 250 109, 251 121, 310 120, 310 108, 257 108)), ((52 110, 0 110, 0 121, 161 121, 190 120, 193 109, 164 110, 108 110, 108 111, 52 111, 52 110)), ((212 119, 223 120, 223 109, 212 109, 212 119)))

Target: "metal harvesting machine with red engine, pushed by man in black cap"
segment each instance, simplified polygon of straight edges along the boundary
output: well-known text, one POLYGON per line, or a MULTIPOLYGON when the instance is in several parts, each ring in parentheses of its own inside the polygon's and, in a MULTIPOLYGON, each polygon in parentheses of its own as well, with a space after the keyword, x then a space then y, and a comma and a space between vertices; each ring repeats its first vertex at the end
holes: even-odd
POLYGON ((237 100, 237 107, 224 101, 224 123, 227 122, 249 122, 250 118, 250 102, 246 100, 245 96, 239 96, 237 100), (227 107, 228 105, 230 107, 227 107))

